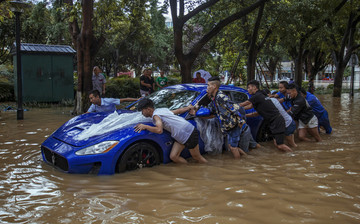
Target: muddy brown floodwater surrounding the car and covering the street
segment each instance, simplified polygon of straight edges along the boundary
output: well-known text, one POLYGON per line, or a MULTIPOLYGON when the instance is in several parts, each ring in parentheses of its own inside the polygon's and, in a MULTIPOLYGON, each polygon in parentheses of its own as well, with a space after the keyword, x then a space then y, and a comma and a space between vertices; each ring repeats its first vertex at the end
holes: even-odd
POLYGON ((333 134, 281 153, 167 164, 112 176, 73 175, 40 144, 71 108, 0 113, 0 223, 360 223, 360 99, 319 96, 333 134))

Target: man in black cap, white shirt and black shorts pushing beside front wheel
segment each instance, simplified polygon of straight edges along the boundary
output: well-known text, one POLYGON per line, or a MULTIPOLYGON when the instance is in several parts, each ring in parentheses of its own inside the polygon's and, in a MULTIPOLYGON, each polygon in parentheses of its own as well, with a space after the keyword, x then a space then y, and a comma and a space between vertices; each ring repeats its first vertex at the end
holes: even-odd
POLYGON ((194 107, 192 105, 172 111, 167 108, 155 109, 154 102, 148 98, 144 98, 138 103, 138 110, 141 111, 145 117, 152 117, 155 127, 137 124, 134 129, 136 132, 148 130, 157 134, 162 134, 163 129, 165 129, 169 131, 171 137, 175 139, 170 152, 170 159, 172 161, 175 163, 187 163, 187 161, 180 156, 186 147, 195 160, 199 163, 206 163, 207 160, 199 151, 199 135, 196 128, 183 117, 176 115, 193 109, 194 107))

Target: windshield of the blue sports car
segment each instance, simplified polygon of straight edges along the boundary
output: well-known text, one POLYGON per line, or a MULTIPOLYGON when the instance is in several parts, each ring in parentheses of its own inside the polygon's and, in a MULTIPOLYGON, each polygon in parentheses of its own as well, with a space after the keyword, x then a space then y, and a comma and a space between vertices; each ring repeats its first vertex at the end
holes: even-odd
MULTIPOLYGON (((147 97, 154 102, 155 108, 176 110, 188 106, 199 94, 190 90, 162 89, 147 97)), ((137 110, 137 103, 130 110, 137 110)))

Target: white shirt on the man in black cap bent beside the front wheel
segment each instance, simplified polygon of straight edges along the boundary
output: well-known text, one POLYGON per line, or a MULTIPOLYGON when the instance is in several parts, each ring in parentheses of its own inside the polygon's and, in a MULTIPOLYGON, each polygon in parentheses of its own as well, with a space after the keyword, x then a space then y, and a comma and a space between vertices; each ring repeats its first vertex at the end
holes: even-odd
POLYGON ((164 129, 170 132, 171 137, 180 144, 186 143, 195 128, 183 117, 175 115, 167 108, 159 108, 154 111, 152 118, 155 124, 154 116, 160 117, 164 129))

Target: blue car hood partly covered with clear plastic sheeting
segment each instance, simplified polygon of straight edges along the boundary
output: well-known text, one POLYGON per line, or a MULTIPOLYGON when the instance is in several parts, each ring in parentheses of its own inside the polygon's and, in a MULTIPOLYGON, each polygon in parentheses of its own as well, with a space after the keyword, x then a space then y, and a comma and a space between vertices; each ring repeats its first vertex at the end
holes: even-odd
MULTIPOLYGON (((113 113, 89 113, 70 119, 52 137, 67 144, 81 147, 107 139, 116 132, 129 125, 151 122, 151 118, 145 118, 141 112, 118 110, 113 113)), ((118 136, 120 139, 121 136, 118 136)), ((116 139, 111 139, 116 140, 116 139)))

